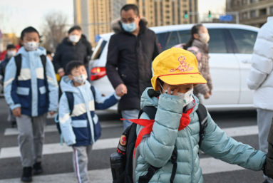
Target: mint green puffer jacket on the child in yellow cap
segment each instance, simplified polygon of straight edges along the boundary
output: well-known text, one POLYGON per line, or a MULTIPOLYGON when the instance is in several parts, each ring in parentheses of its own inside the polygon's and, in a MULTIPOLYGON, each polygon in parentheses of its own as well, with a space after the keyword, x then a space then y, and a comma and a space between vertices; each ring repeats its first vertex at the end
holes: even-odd
MULTIPOLYGON (((172 173, 172 163, 170 157, 174 147, 177 147, 177 171, 174 182, 202 183, 202 169, 199 165, 198 142, 199 142, 199 122, 196 110, 199 102, 195 98, 195 108, 190 114, 190 125, 178 131, 180 118, 182 115, 182 100, 179 96, 162 94, 160 98, 153 95, 153 88, 147 88, 141 98, 141 108, 145 106, 155 106, 158 112, 155 115, 153 131, 150 135, 143 137, 138 145, 135 167, 135 182, 141 175, 147 173, 149 164, 155 167, 162 167, 155 172, 150 182, 170 182, 172 173)), ((216 159, 237 164, 241 167, 261 170, 266 154, 259 150, 254 150, 249 145, 244 145, 228 137, 224 131, 217 127, 215 122, 207 113, 207 129, 205 139, 202 141, 201 150, 207 155, 216 159)), ((149 119, 143 113, 140 118, 149 119)), ((138 125, 137 134, 143 127, 138 125)))

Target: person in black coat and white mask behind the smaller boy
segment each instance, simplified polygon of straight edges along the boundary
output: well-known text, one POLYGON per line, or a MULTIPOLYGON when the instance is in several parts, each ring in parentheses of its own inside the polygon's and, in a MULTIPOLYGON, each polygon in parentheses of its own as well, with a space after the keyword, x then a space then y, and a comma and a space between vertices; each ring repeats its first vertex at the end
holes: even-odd
POLYGON ((56 73, 62 77, 66 75, 66 65, 71 61, 81 61, 88 66, 88 61, 92 55, 92 46, 82 35, 81 27, 73 26, 68 31, 68 37, 58 45, 53 57, 53 66, 56 73))

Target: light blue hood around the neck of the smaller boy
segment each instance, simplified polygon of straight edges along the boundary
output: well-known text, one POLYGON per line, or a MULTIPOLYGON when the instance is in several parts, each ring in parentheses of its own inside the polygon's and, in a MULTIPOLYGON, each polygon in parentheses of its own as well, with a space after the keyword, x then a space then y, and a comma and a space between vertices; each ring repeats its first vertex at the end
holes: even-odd
MULTIPOLYGON (((71 92, 71 93, 79 93, 80 91, 73 85, 73 81, 68 78, 68 75, 63 76, 61 78, 61 91, 62 92, 71 92)), ((86 80, 86 83, 81 87, 86 88, 86 90, 91 88, 91 84, 86 80)))

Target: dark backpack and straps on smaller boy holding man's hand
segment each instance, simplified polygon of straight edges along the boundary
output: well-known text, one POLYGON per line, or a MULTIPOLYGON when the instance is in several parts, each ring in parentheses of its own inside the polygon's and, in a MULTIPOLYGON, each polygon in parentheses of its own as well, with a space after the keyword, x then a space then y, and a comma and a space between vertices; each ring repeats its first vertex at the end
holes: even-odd
MULTIPOLYGON (((96 90, 93 87, 93 85, 91 85, 91 91, 92 91, 92 94, 93 94, 94 101, 96 101, 96 90)), ((69 107, 69 110, 70 110, 70 114, 69 115, 71 115, 72 112, 73 112, 73 108, 74 108, 74 96, 73 96, 73 93, 71 93, 71 92, 65 92, 65 93, 66 93, 66 98, 68 100, 68 107, 69 107)), ((57 126, 57 129, 58 129, 58 132, 61 134, 61 127, 60 127, 60 122, 58 120, 58 114, 55 117, 55 122, 56 122, 56 126, 57 126)), ((97 124, 98 124, 98 128, 101 128, 101 125, 99 123, 97 123, 97 124)), ((63 145, 63 137, 62 137, 62 135, 61 135, 61 145, 63 145)))

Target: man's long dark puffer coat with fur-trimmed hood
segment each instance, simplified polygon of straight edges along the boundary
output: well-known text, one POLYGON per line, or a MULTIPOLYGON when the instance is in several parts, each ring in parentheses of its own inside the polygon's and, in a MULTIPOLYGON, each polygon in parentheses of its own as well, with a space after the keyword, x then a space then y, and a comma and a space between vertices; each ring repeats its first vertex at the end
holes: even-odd
POLYGON ((120 21, 112 24, 115 34, 108 46, 106 73, 116 88, 124 83, 128 93, 120 99, 120 110, 140 109, 140 96, 151 86, 152 61, 160 53, 158 38, 140 21, 138 36, 123 30, 120 21), (118 68, 118 70, 117 70, 118 68))

